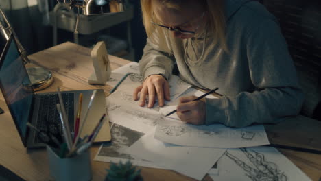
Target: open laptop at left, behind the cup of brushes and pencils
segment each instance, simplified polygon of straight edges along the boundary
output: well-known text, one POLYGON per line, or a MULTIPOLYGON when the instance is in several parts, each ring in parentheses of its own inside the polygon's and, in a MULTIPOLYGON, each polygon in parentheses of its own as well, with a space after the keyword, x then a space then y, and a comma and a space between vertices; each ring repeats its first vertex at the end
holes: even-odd
MULTIPOLYGON (((29 84, 30 80, 23 59, 11 34, 0 59, 0 88, 16 129, 21 136, 23 145, 27 148, 44 147, 45 144, 41 143, 36 131, 27 126, 27 122, 39 130, 51 129, 48 125, 55 125, 54 127, 59 132, 62 132, 60 117, 56 109, 56 104, 59 103, 58 92, 34 93, 31 87, 25 86, 29 84)), ((71 132, 73 132, 73 125, 78 110, 78 97, 80 93, 83 94, 80 117, 80 125, 82 125, 93 90, 62 91, 61 93, 69 127, 71 132)), ((95 99, 88 112, 88 117, 80 136, 84 137, 86 134, 91 134, 103 114, 106 114, 104 90, 97 89, 95 99)), ((109 121, 104 121, 104 125, 95 138, 94 143, 105 143, 110 140, 109 121)))

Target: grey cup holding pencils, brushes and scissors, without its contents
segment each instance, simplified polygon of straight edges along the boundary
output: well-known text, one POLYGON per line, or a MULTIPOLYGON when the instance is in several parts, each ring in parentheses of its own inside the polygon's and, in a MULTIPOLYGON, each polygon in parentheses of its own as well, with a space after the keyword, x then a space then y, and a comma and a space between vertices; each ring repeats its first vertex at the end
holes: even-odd
POLYGON ((49 170, 51 176, 59 181, 88 181, 92 178, 89 149, 70 158, 60 158, 51 147, 47 146, 49 170))

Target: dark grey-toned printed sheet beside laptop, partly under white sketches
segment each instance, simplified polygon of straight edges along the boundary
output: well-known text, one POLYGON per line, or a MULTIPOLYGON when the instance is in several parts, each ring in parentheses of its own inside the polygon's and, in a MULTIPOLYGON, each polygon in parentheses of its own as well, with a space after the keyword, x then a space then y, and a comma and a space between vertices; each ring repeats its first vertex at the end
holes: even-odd
POLYGON ((142 160, 132 154, 123 153, 123 150, 130 147, 130 145, 144 135, 142 132, 136 132, 117 124, 112 126, 110 131, 112 135, 112 142, 102 144, 94 158, 95 161, 118 163, 119 161, 126 162, 127 160, 130 160, 133 165, 162 168, 156 166, 150 161, 142 160))

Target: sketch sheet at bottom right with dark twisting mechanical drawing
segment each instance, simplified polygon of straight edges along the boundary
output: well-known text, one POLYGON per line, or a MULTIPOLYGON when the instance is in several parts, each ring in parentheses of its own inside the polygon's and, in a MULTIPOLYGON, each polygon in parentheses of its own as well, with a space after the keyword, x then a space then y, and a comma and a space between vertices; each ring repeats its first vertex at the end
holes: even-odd
POLYGON ((296 165, 274 147, 228 149, 219 159, 217 175, 213 180, 311 180, 296 165))

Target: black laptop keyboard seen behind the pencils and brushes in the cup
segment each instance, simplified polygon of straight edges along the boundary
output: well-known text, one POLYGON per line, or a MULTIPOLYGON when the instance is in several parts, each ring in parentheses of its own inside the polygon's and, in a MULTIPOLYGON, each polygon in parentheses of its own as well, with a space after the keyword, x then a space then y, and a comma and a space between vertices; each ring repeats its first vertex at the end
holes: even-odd
MULTIPOLYGON (((38 111, 38 121, 36 123, 36 127, 39 130, 46 130, 53 134, 61 134, 62 125, 60 121, 60 115, 56 107, 56 104, 59 103, 58 94, 47 94, 38 96, 40 97, 40 106, 38 111)), ((74 93, 62 93, 64 109, 66 110, 67 118, 69 121, 69 128, 71 129, 71 132, 73 132, 74 121, 73 97, 74 93)), ((35 143, 40 143, 38 136, 35 136, 35 143)))

